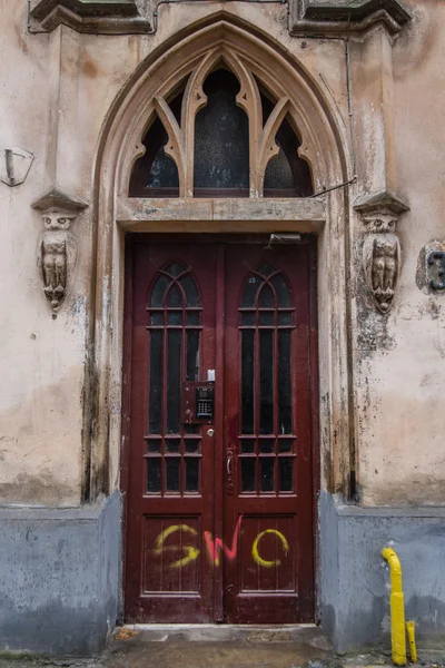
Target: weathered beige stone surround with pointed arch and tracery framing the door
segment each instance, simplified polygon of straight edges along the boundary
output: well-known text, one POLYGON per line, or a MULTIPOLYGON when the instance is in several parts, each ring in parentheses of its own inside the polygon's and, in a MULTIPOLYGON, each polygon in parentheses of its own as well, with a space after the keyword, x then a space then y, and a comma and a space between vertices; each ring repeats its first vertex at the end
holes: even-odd
MULTIPOLYGON (((89 371, 91 401, 86 402, 93 406, 93 414, 86 413, 85 416, 85 430, 89 433, 85 449, 85 489, 90 490, 90 498, 118 487, 121 439, 125 441, 126 438, 125 424, 121 435, 120 415, 123 232, 178 229, 172 226, 175 220, 181 222, 181 230, 202 230, 197 227, 197 222, 211 224, 218 220, 216 230, 234 232, 237 229, 234 222, 244 219, 234 214, 238 210, 234 200, 225 205, 221 203, 227 200, 192 198, 192 161, 188 156, 194 145, 194 119, 206 102, 202 82, 221 61, 240 81, 237 102, 248 115, 250 146, 255 146, 250 155, 250 198, 243 200, 243 214, 247 212, 251 224, 249 229, 273 232, 279 224, 286 229, 319 232, 319 264, 323 266, 319 314, 325 337, 322 346, 326 347, 324 360, 320 360, 320 393, 333 397, 326 407, 332 434, 329 429, 325 430, 326 443, 322 444, 322 450, 329 452, 334 441, 338 448, 343 439, 343 454, 339 453, 335 464, 338 474, 334 473, 333 478, 346 480, 342 471, 348 470, 347 461, 343 460, 348 456, 350 432, 348 372, 346 335, 338 335, 338 332, 347 331, 346 285, 342 279, 348 227, 344 191, 337 189, 320 199, 293 198, 284 205, 261 199, 265 169, 277 151, 275 132, 286 115, 301 141, 299 154, 309 163, 316 191, 348 179, 350 160, 346 126, 338 109, 334 109, 298 61, 268 36, 247 29, 238 19, 229 19, 221 11, 210 24, 195 26, 182 39, 176 39, 149 56, 119 94, 102 128, 95 170, 96 275, 92 286, 96 299, 90 331, 93 351, 89 371), (186 77, 186 101, 178 124, 167 102, 186 77), (276 100, 265 127, 255 78, 276 100), (141 141, 155 115, 159 115, 165 124, 168 153, 178 165, 181 184, 180 197, 167 205, 174 222, 170 228, 166 219, 166 200, 128 198, 131 169, 144 155, 141 141), (257 220, 263 227, 256 227, 257 220)), ((209 227, 206 230, 211 232, 209 227)), ((337 487, 342 487, 342 480, 337 487)))

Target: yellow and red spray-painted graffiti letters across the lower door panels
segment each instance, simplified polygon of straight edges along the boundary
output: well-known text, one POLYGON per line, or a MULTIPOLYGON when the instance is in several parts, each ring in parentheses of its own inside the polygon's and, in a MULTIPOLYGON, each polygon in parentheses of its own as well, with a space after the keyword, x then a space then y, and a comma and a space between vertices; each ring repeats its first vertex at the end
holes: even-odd
MULTIPOLYGON (((231 539, 230 547, 226 546, 222 542, 222 540, 218 537, 215 538, 215 540, 214 540, 214 538, 209 531, 204 532, 204 540, 205 540, 207 553, 208 553, 208 557, 209 557, 209 560, 211 563, 215 563, 215 566, 219 566, 221 554, 224 557, 226 557, 226 559, 229 559, 230 561, 236 559, 237 550, 238 550, 238 538, 239 538, 239 533, 241 531, 241 522, 243 522, 243 515, 240 515, 238 519, 237 525, 234 531, 234 537, 231 539)), ((190 536, 197 536, 197 533, 198 533, 196 531, 196 529, 194 529, 192 527, 189 527, 188 524, 171 524, 171 527, 168 527, 161 533, 159 533, 158 538, 155 541, 155 548, 152 550, 154 554, 161 556, 166 552, 176 552, 178 554, 178 559, 176 559, 175 561, 172 561, 170 563, 170 568, 182 568, 182 567, 187 566, 188 563, 196 561, 196 559, 198 559, 198 557, 199 557, 199 553, 200 553, 199 549, 194 546, 182 544, 182 540, 181 540, 180 546, 176 544, 175 542, 170 542, 170 541, 167 542, 167 539, 170 536, 174 536, 175 533, 181 534, 182 532, 186 534, 189 533, 190 536)), ((273 568, 274 566, 279 566, 281 563, 281 561, 279 559, 271 559, 271 560, 264 559, 260 554, 260 543, 265 536, 275 536, 276 539, 281 544, 283 553, 285 556, 288 554, 289 543, 287 542, 286 537, 280 531, 277 531, 276 529, 265 529, 264 531, 260 531, 256 536, 256 538, 253 542, 251 558, 254 559, 255 563, 257 563, 258 566, 261 566, 264 568, 273 568)))

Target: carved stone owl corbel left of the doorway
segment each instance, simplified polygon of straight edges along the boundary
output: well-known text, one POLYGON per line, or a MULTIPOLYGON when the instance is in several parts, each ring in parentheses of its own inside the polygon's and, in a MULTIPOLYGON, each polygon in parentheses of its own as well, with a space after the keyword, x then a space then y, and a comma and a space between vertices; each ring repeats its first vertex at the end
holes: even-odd
POLYGON ((40 237, 38 267, 43 293, 53 312, 59 311, 76 266, 77 244, 69 232, 71 223, 88 204, 58 188, 52 188, 31 204, 41 212, 44 230, 40 237))

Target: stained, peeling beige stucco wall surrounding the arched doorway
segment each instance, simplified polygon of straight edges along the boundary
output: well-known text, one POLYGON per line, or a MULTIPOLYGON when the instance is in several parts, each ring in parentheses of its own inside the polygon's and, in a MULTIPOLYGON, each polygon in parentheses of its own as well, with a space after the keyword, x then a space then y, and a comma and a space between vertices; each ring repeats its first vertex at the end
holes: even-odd
MULTIPOLYGON (((443 95, 438 85, 445 65, 439 37, 445 31, 445 7, 427 0, 407 4, 414 21, 393 48, 394 146, 398 191, 409 202, 411 212, 399 222, 404 264, 388 316, 376 314, 366 293, 360 264, 363 226, 352 212, 350 380, 357 477, 365 504, 444 500, 441 381, 445 376, 445 297, 421 291, 416 273, 422 247, 445 237, 443 95)), ((218 3, 199 3, 194 20, 218 9, 218 3)), ((286 7, 234 2, 228 11, 259 26, 304 62, 347 135, 343 43, 289 37, 286 7)), ((30 204, 55 184, 92 204, 100 130, 113 99, 137 66, 189 22, 187 7, 164 6, 156 36, 80 36, 66 27, 51 35, 29 35, 26 3, 3 2, 0 49, 3 65, 10 67, 3 67, 2 73, 1 148, 18 146, 33 153, 36 159, 24 184, 14 188, 0 184, 2 503, 79 503, 85 432, 91 428, 83 422, 88 326, 93 317, 91 206, 73 223, 78 262, 67 301, 53 318, 37 272, 42 223, 30 204)), ((375 109, 364 108, 359 99, 366 40, 362 37, 352 45, 352 90, 354 112, 369 115, 372 121, 375 109)), ((365 164, 360 163, 360 135, 355 143, 360 167, 365 164)), ((364 180, 365 175, 358 173, 350 203, 362 194, 364 180)), ((324 299, 320 294, 320 304, 324 299)), ((329 351, 324 347, 323 334, 320 341, 320 369, 326 373, 329 351)), ((110 406, 116 415, 119 396, 117 387, 110 406)), ((322 424, 322 433, 325 426, 322 424)), ((112 485, 117 485, 118 443, 110 448, 112 485)), ((322 479, 328 487, 327 469, 322 479)))

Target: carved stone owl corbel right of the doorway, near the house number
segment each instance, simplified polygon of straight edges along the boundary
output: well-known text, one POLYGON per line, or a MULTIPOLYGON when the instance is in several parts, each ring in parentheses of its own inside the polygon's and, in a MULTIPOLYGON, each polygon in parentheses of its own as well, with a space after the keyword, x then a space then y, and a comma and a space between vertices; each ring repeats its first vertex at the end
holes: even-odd
POLYGON ((390 193, 359 197, 354 208, 365 226, 363 268, 366 284, 376 308, 386 314, 393 305, 402 269, 402 247, 396 236, 399 216, 409 210, 408 205, 390 193))

